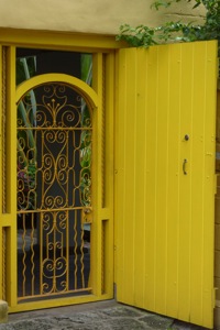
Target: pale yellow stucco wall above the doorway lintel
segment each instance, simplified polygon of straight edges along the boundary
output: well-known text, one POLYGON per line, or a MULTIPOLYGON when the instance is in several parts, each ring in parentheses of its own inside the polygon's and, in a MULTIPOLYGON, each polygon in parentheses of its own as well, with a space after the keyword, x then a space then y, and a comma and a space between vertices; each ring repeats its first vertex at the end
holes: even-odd
POLYGON ((172 10, 151 10, 148 0, 0 0, 0 28, 117 34, 129 23, 156 25, 167 20, 197 19, 202 9, 191 10, 183 0, 172 10), (196 16, 196 18, 195 18, 196 16))

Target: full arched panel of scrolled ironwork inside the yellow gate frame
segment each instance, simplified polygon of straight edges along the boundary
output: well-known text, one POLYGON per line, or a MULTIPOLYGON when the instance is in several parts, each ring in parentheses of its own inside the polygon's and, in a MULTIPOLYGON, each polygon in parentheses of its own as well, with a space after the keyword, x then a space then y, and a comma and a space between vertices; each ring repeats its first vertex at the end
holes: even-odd
POLYGON ((20 100, 16 131, 18 219, 23 229, 19 296, 85 289, 81 212, 92 202, 90 109, 73 87, 45 84, 20 100), (25 246, 30 217, 31 235, 40 243, 36 253, 31 242, 31 256, 25 246))

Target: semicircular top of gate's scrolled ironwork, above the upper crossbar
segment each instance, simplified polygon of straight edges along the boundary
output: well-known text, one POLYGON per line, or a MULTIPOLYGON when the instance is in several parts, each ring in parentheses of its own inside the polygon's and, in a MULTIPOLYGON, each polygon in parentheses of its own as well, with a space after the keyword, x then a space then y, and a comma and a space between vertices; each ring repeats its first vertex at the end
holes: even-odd
POLYGON ((91 127, 91 120, 82 120, 82 101, 81 96, 65 84, 46 84, 38 87, 36 96, 42 95, 41 101, 36 105, 31 103, 29 94, 25 95, 19 105, 19 113, 22 113, 22 108, 25 109, 25 118, 19 116, 18 127, 24 128, 26 123, 33 121, 38 128, 78 128, 91 127), (34 111, 35 106, 37 111, 34 111))

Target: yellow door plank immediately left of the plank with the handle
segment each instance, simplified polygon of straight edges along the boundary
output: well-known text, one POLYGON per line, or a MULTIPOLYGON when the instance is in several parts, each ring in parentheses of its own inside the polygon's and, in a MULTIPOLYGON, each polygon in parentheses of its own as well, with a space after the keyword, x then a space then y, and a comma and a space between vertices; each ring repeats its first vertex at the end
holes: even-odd
POLYGON ((169 116, 167 173, 167 277, 166 314, 178 315, 179 148, 180 148, 180 45, 169 47, 169 116), (175 92, 174 92, 175 90, 175 92))

